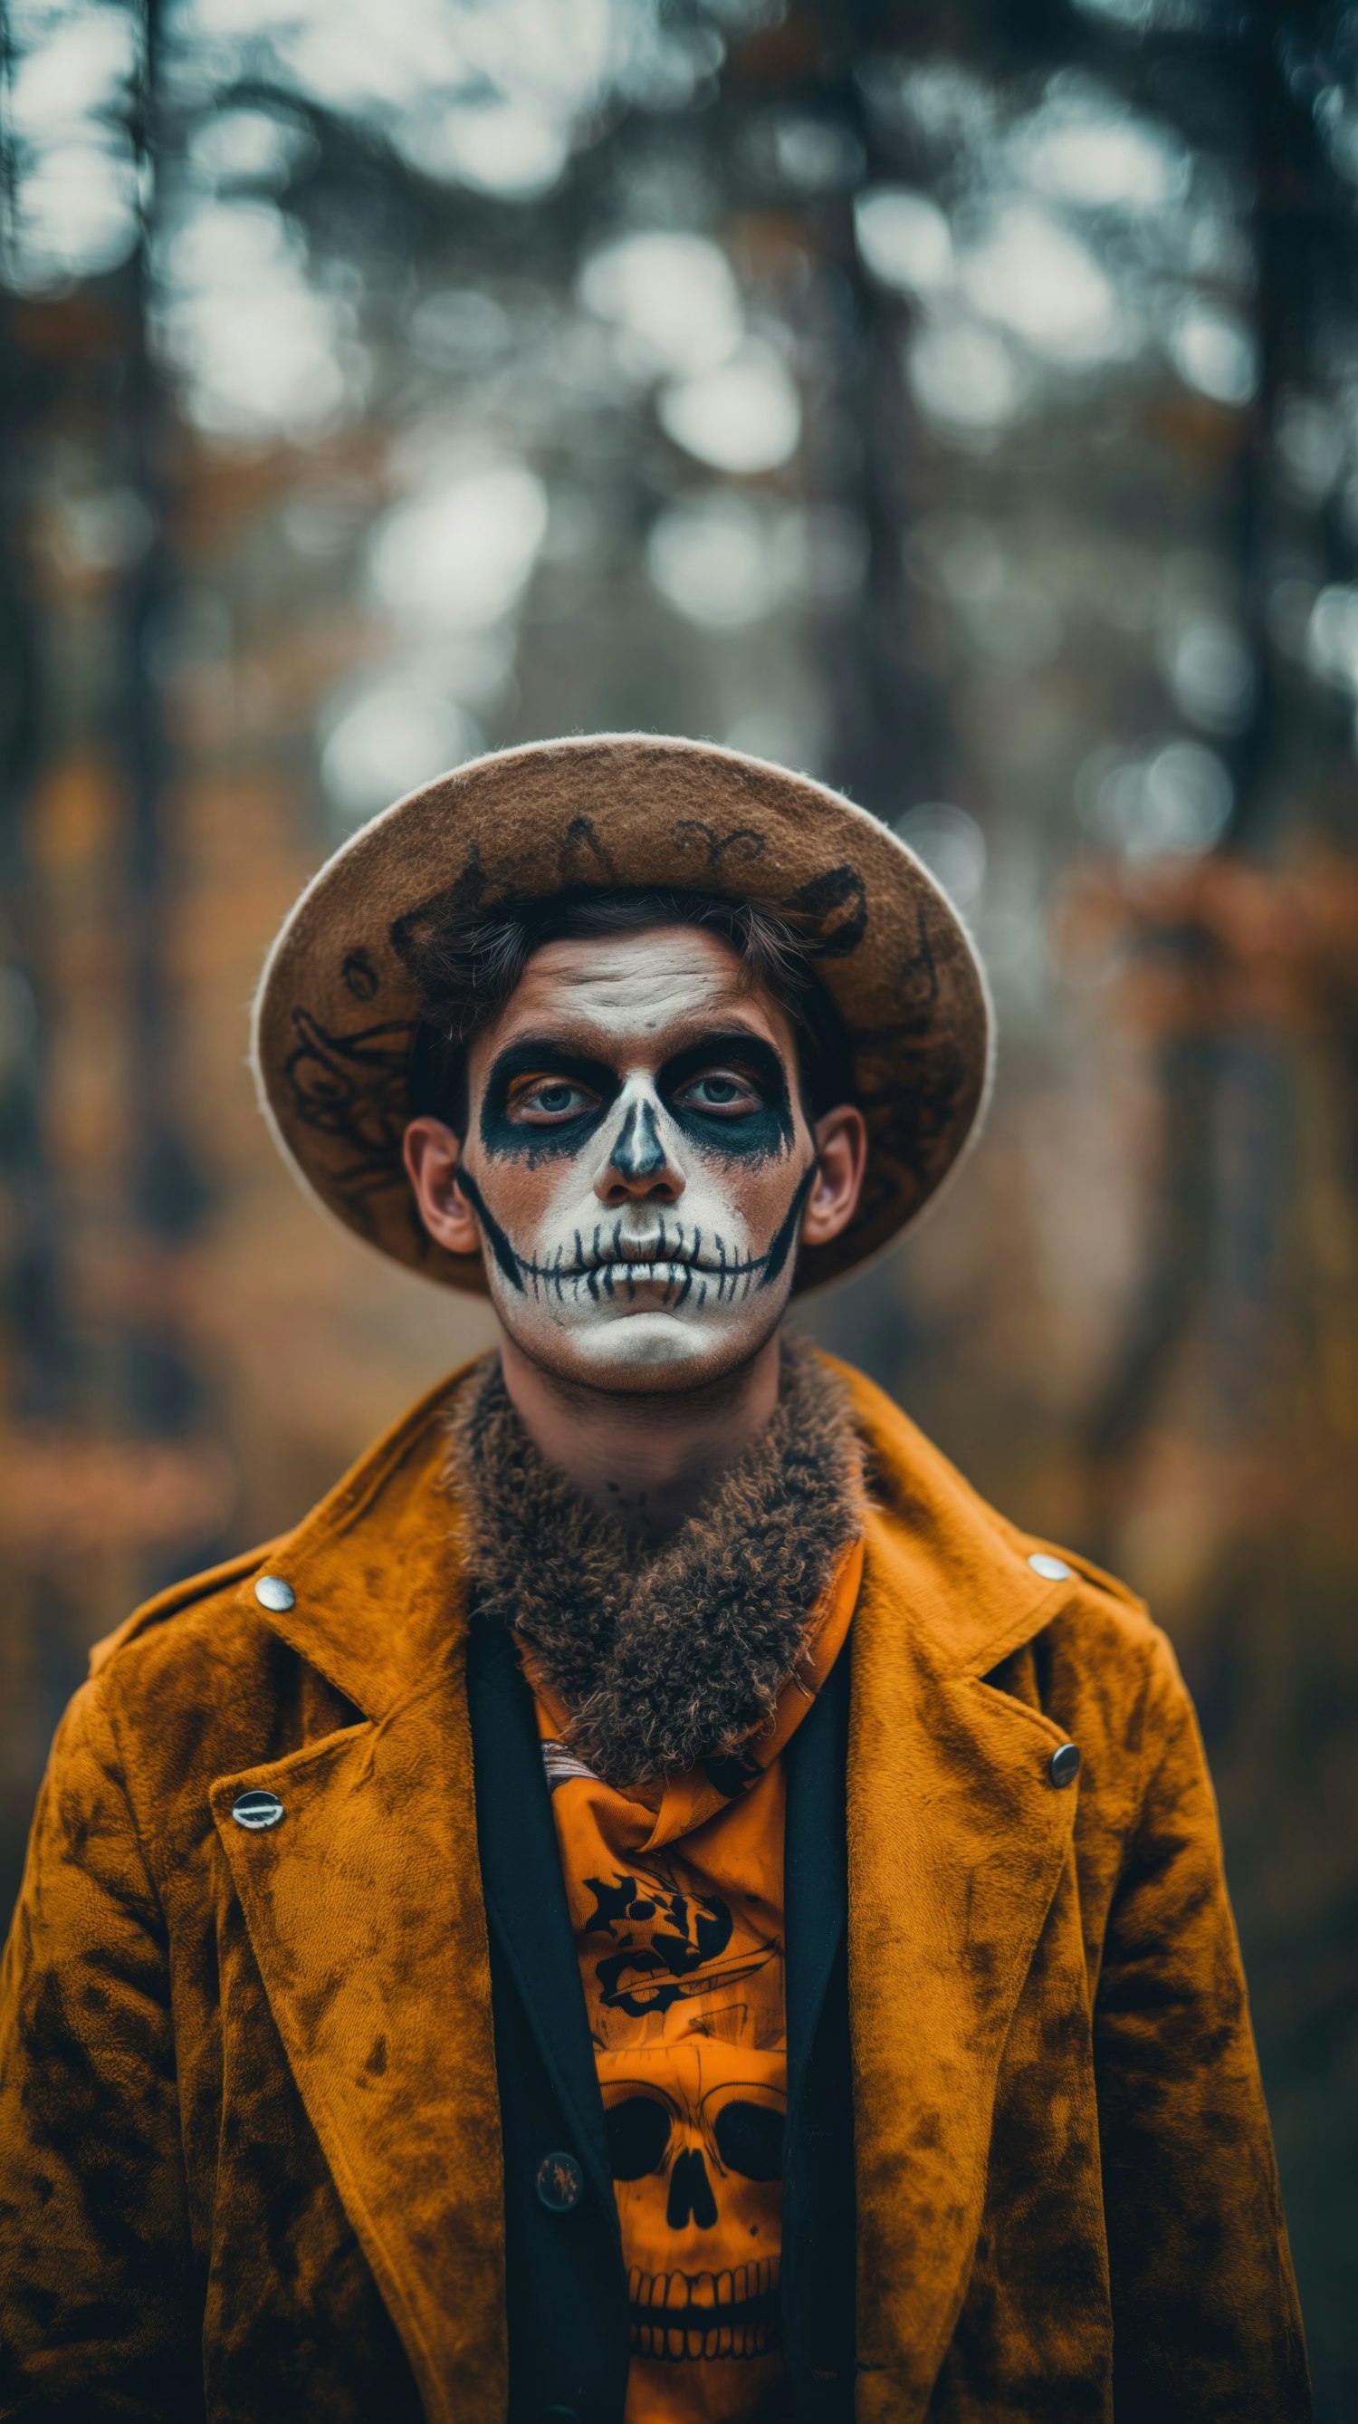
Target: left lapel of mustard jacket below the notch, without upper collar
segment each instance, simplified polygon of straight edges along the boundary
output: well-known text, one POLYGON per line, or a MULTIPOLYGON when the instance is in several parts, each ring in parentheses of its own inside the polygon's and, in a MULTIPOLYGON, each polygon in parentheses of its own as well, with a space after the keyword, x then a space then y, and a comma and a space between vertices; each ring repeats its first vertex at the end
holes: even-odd
POLYGON ((431 2424, 504 2414, 504 2194, 465 1694, 228 1777, 213 1816, 312 2128, 431 2424), (249 1835, 244 1786, 283 1803, 249 1835), (455 2298, 450 2296, 455 2288, 455 2298))

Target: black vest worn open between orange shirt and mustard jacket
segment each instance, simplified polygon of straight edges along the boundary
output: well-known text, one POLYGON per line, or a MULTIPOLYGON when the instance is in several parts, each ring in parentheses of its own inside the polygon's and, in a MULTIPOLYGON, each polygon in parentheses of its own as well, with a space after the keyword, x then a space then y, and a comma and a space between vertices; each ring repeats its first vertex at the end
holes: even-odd
MULTIPOLYGON (((852 1631, 850 1631, 852 1641, 852 1631)), ((508 1631, 472 1627, 467 1660, 477 1833, 491 1934, 504 2128, 508 2424, 622 2424, 627 2279, 557 1830, 533 1694, 508 1631), (559 2196, 547 2155, 569 2155, 559 2196)), ((787 2133, 782 2344, 770 2424, 852 2424, 854 2165, 845 1973, 850 1643, 787 1757, 787 2133)))

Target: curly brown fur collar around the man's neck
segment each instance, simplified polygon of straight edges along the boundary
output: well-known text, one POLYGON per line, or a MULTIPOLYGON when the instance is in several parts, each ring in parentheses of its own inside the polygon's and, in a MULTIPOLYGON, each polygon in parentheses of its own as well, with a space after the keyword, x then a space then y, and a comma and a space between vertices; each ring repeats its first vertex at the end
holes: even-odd
POLYGON ((789 1340, 772 1420, 661 1549, 639 1549, 545 1462, 499 1357, 453 1418, 450 1481, 474 1612, 533 1648, 571 1711, 571 1750, 610 1784, 680 1774, 767 1721, 862 1530, 847 1394, 789 1340))

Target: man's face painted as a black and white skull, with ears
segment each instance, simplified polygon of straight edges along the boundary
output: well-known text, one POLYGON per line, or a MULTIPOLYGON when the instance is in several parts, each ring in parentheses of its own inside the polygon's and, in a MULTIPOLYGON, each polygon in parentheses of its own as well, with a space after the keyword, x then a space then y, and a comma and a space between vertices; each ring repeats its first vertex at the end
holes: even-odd
POLYGON ((726 941, 658 926, 547 943, 472 1045, 467 1103, 445 1188, 450 1132, 412 1122, 412 1180, 443 1244, 470 1207, 496 1314, 535 1365, 683 1389, 770 1338, 821 1156, 792 1023, 726 941))

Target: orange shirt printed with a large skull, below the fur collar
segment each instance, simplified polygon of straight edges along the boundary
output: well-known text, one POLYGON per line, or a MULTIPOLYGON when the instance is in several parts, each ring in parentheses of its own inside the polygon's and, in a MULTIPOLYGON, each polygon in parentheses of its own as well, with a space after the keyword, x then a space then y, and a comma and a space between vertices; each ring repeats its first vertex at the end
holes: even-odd
POLYGON ((862 1556, 845 1549, 767 1731, 656 1786, 591 1774, 525 1658, 622 2225, 627 2424, 782 2414, 782 1750, 845 1641, 862 1556))

